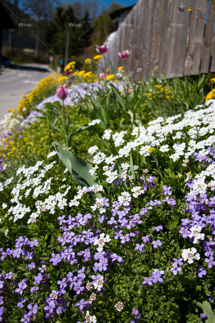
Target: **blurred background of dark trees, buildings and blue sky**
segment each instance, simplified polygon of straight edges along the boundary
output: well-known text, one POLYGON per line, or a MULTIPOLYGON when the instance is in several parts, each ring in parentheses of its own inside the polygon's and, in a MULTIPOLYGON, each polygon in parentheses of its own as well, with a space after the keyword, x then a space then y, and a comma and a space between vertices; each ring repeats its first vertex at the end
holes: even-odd
POLYGON ((117 30, 135 3, 1 0, 1 65, 43 63, 61 72, 65 60, 75 60, 76 68, 81 69, 84 60, 97 53, 96 45, 117 30))

